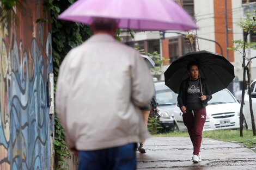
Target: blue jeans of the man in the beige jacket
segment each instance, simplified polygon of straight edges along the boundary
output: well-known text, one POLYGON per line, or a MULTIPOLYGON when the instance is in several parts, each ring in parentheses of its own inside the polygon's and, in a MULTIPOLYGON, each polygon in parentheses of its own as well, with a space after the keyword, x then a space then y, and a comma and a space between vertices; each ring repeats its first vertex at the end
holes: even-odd
POLYGON ((136 144, 100 150, 78 151, 78 170, 136 169, 136 144))

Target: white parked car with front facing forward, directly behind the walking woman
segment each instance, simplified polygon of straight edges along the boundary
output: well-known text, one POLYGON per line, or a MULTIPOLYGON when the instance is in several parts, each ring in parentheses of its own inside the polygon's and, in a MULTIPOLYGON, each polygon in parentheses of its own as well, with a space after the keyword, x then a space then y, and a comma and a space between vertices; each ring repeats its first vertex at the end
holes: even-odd
MULTIPOLYGON (((206 121, 203 130, 238 129, 240 104, 228 89, 223 89, 212 95, 206 106, 206 121)), ((187 130, 183 123, 182 112, 176 105, 175 121, 179 130, 187 130)))

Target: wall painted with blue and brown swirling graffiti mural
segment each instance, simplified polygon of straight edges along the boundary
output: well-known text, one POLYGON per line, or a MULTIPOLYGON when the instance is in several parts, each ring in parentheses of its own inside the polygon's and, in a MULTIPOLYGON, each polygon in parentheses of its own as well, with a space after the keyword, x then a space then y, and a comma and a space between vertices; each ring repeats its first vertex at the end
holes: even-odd
POLYGON ((0 170, 50 169, 52 119, 48 73, 51 28, 43 1, 14 8, 15 22, 0 23, 0 170))

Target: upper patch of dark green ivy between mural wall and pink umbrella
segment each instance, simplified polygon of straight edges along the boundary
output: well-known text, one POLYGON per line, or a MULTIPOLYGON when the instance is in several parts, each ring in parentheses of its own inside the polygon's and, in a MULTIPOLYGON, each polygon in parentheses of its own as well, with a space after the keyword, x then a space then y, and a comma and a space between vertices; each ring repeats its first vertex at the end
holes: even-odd
POLYGON ((59 66, 70 49, 81 45, 92 35, 88 26, 82 23, 57 20, 58 15, 73 4, 74 0, 48 0, 45 2, 47 10, 51 10, 52 48, 54 77, 57 80, 59 66))

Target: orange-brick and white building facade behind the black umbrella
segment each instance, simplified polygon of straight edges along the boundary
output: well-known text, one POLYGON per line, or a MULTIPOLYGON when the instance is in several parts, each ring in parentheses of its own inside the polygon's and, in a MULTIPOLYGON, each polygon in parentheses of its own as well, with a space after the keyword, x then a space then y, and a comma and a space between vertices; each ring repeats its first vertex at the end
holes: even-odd
MULTIPOLYGON (((236 22, 245 17, 246 11, 253 12, 256 2, 249 0, 183 0, 183 8, 196 21, 199 29, 190 33, 197 35, 191 45, 185 38, 187 32, 169 30, 161 39, 159 32, 138 32, 134 39, 124 38, 129 45, 144 49, 146 53, 157 51, 164 59, 163 72, 179 56, 191 51, 206 50, 222 54, 235 68, 235 76, 242 81, 242 54, 227 49, 233 47, 233 40, 243 40, 243 30, 236 22), (225 4, 226 3, 226 4, 225 4)), ((251 35, 255 41, 255 35, 251 35)), ((255 51, 248 51, 248 56, 255 56, 255 51)), ((252 79, 256 78, 256 59, 251 64, 252 79)), ((162 76, 163 79, 163 76, 162 76)))

